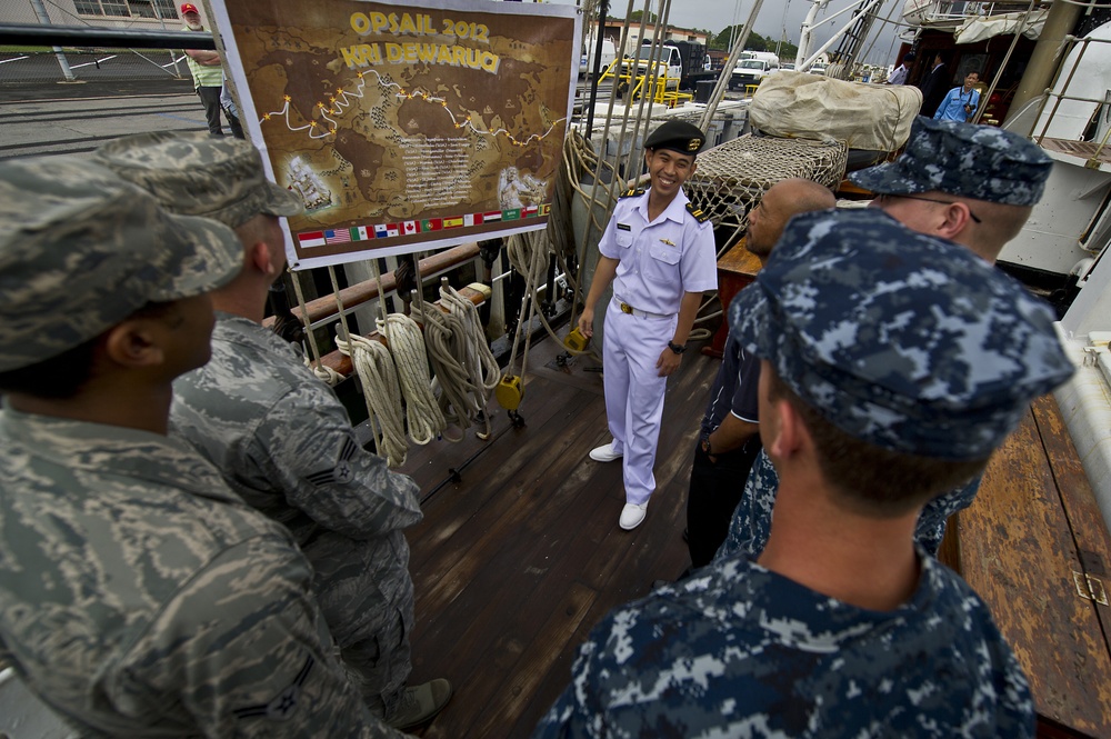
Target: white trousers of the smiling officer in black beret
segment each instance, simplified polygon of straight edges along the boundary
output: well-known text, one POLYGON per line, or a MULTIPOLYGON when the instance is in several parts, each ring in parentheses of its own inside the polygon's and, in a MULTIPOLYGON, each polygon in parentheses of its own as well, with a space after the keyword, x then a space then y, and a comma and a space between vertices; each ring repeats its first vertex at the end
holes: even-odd
POLYGON ((647 318, 624 313, 617 300, 605 310, 605 419, 614 451, 624 455, 625 502, 647 503, 655 491, 652 468, 668 389, 668 378, 660 377, 655 362, 674 336, 678 321, 678 314, 647 318))

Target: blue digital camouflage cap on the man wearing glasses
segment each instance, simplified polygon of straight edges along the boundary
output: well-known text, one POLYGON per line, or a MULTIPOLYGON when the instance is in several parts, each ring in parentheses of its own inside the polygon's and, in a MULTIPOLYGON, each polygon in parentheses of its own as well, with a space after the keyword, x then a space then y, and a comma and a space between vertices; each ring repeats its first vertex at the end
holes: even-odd
POLYGON ((1033 206, 1041 199, 1052 164, 1038 146, 1010 131, 919 116, 897 160, 852 172, 849 180, 878 194, 937 190, 1033 206))

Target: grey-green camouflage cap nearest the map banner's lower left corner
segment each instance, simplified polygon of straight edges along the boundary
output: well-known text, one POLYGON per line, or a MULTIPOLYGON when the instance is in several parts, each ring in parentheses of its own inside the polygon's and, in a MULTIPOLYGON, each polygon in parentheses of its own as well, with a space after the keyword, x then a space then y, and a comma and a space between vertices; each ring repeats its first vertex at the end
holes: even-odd
POLYGON ((154 131, 116 139, 94 157, 174 213, 236 228, 259 213, 297 216, 304 210, 300 196, 267 179, 259 150, 239 139, 154 131))

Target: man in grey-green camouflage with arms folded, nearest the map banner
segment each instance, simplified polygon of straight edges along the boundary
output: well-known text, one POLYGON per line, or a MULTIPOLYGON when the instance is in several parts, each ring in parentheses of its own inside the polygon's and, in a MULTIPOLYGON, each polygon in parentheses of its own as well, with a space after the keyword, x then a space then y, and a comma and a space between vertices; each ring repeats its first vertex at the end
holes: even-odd
POLYGON ((402 529, 422 518, 419 489, 356 440, 347 410, 288 343, 263 328, 267 291, 286 264, 279 216, 300 199, 269 182, 254 147, 196 133, 117 139, 97 159, 170 211, 236 229, 243 271, 213 291, 212 360, 174 382, 173 433, 232 490, 289 527, 351 678, 370 709, 407 729, 438 713, 451 686, 407 688, 413 583, 402 529))

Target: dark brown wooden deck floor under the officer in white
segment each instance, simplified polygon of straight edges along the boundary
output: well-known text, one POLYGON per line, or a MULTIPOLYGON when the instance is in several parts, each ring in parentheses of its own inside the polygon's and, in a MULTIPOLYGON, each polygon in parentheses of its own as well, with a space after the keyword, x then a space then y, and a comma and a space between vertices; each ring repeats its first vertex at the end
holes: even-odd
POLYGON ((618 528, 620 463, 587 457, 609 440, 601 375, 585 371, 598 362, 578 358, 561 369, 551 341, 529 358, 524 428, 499 410, 491 441, 470 429, 460 443, 410 452, 402 470, 428 498, 423 522, 408 532, 417 589, 411 682, 444 677, 456 689, 424 737, 530 736, 570 682, 593 625, 688 567, 690 466, 720 363, 698 348, 668 383, 658 489, 633 531, 618 528), (444 470, 472 457, 444 485, 444 470))

